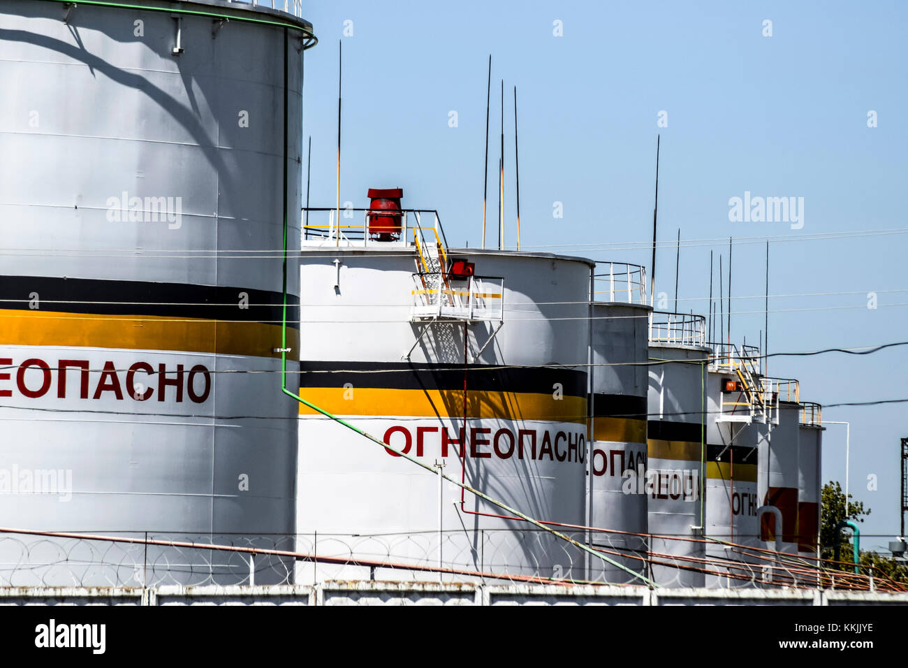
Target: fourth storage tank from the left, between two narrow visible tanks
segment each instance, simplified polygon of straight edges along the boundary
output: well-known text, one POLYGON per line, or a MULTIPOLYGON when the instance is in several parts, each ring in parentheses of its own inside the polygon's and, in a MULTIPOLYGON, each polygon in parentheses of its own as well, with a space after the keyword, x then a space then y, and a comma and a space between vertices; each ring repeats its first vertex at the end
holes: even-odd
MULTIPOLYGON (((656 318, 654 314, 654 334, 656 318)), ((669 314, 675 315, 675 314, 669 314)), ((700 330, 702 332, 702 330, 700 330)), ((658 337, 662 338, 662 337, 658 337)), ((702 486, 706 467, 706 362, 702 335, 649 343, 647 516, 653 579, 704 585, 702 486), (680 568, 678 566, 681 566, 680 568), (694 569, 694 570, 688 570, 694 569)))

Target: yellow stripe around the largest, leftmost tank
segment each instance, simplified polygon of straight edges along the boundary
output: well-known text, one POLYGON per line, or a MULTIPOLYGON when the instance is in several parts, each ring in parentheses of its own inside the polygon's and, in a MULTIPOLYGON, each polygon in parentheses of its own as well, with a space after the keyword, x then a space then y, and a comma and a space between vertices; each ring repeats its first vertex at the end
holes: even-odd
MULTIPOLYGON (((290 357, 298 359, 300 331, 287 328, 290 357)), ((160 315, 71 314, 0 310, 0 343, 61 347, 173 350, 185 353, 277 357, 281 325, 160 315)))

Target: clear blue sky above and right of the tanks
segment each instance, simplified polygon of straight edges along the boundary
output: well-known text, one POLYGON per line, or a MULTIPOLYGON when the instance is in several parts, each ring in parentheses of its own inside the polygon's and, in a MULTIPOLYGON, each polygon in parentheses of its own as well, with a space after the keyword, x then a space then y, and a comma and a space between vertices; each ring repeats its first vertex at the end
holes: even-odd
MULTIPOLYGON (((674 297, 678 228, 678 307, 701 314, 710 250, 725 263, 729 236, 752 237, 734 245, 733 296, 740 298, 733 298, 732 325, 735 339, 756 343, 770 237, 770 294, 812 294, 770 300, 770 353, 908 339, 908 234, 803 238, 908 228, 904 3, 318 0, 304 16, 320 39, 305 64, 312 205, 334 203, 342 39, 341 202, 363 206, 369 187, 401 186, 406 206, 439 210, 450 244, 479 245, 491 54, 489 229, 504 78, 508 245, 516 235, 517 85, 524 249, 648 265, 650 251, 640 244, 652 237, 659 133, 659 241, 669 245, 658 252, 656 293, 674 297), (763 35, 766 19, 772 36, 763 35), (562 36, 553 35, 556 20, 562 36), (343 35, 345 21, 351 36, 343 35), (449 127, 450 111, 457 127, 449 127), (656 125, 660 111, 667 127, 656 125), (728 200, 745 191, 804 197, 803 229, 730 222, 728 200), (555 202, 563 219, 553 218, 555 202), (716 241, 694 241, 704 239, 716 241), (867 308, 871 292, 876 309, 867 308)), ((906 356, 908 346, 861 357, 775 358, 770 371, 798 378, 802 398, 821 404, 902 398, 906 356)), ((906 410, 824 411, 825 419, 852 423, 850 487, 873 509, 864 533, 898 532, 906 410), (871 474, 875 491, 867 489, 871 474)), ((844 426, 824 434, 823 479, 844 482, 844 426)))

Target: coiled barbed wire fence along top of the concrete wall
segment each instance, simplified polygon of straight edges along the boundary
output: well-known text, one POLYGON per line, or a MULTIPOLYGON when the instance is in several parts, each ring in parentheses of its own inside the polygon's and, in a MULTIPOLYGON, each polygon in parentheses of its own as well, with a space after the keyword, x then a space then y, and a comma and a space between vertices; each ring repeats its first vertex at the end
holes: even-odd
MULTIPOLYGON (((583 542, 589 534, 575 532, 583 542)), ((597 531, 591 545, 659 587, 904 592, 879 574, 696 538, 597 531), (669 547, 666 548, 666 545, 669 547), (670 550, 670 551, 666 551, 670 550)), ((0 586, 157 587, 328 580, 640 584, 535 528, 270 536, 83 534, 0 529, 0 586)))

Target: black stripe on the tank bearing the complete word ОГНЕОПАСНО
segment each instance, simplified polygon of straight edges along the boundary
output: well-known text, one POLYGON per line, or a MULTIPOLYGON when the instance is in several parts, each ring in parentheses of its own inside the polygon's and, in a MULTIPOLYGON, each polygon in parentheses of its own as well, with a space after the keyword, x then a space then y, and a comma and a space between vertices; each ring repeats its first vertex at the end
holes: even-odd
MULTIPOLYGON (((305 354, 305 351, 301 351, 305 354)), ((395 390, 463 390, 463 364, 410 364, 407 362, 300 363, 300 387, 378 387, 395 390)), ((577 369, 532 368, 482 364, 467 367, 467 392, 520 392, 587 396, 587 373, 577 369)))

